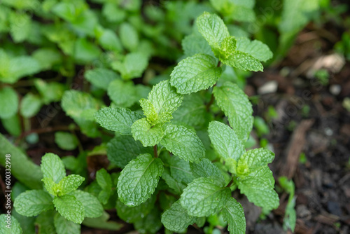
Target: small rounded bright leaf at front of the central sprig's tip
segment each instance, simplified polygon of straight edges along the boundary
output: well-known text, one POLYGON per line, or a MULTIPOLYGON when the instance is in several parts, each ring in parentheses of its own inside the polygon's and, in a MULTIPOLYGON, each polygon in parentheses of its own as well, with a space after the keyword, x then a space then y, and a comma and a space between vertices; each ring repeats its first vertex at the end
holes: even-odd
POLYGON ((155 146, 163 137, 162 123, 151 125, 146 118, 141 118, 132 125, 132 137, 143 146, 155 146))

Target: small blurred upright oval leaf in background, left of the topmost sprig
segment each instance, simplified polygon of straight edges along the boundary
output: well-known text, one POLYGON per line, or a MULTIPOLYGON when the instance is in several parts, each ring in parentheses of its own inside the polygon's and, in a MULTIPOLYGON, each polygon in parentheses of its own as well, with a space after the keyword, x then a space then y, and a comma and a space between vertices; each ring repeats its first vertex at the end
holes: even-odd
POLYGON ((119 29, 120 41, 123 46, 129 51, 134 51, 139 46, 139 35, 132 25, 127 22, 123 22, 119 29))

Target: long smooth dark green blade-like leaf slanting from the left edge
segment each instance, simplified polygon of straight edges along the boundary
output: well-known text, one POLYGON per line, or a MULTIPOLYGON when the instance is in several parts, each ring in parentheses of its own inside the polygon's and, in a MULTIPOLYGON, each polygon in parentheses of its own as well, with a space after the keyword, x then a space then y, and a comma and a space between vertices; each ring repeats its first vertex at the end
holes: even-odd
POLYGON ((6 165, 6 155, 10 152, 11 174, 23 184, 33 189, 43 188, 41 179, 43 174, 40 167, 25 156, 20 149, 8 142, 6 137, 0 133, 0 163, 6 165))

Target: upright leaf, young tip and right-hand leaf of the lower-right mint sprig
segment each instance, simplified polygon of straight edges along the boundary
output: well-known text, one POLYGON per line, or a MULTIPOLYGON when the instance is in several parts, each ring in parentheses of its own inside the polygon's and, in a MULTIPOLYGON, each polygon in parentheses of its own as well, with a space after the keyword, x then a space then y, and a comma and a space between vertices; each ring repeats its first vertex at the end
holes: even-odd
POLYGON ((267 166, 274 159, 274 153, 262 148, 245 151, 235 131, 223 123, 211 122, 208 131, 214 149, 237 177, 235 182, 241 193, 260 207, 278 207, 274 178, 267 166))

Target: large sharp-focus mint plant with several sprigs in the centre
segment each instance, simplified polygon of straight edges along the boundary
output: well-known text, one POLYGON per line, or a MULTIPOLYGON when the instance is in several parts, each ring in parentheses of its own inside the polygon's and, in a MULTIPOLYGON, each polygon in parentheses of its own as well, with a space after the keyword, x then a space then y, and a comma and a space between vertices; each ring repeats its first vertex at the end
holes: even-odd
POLYGON ((207 216, 222 214, 230 233, 244 233, 243 207, 232 198, 232 191, 238 188, 265 210, 278 207, 267 166, 274 153, 262 148, 246 151, 244 142, 253 127, 251 103, 237 84, 220 78, 225 66, 262 71, 261 62, 272 53, 260 41, 230 36, 218 15, 203 13, 196 25, 198 32, 183 41, 189 56, 174 68, 170 81, 160 81, 147 99, 139 100, 143 115, 114 106, 100 109, 94 117, 116 132, 107 155, 123 168, 117 186, 117 212, 122 219, 135 226, 155 219, 159 212, 152 204, 158 194, 165 210, 161 221, 169 230, 181 233, 193 223, 205 222, 207 216), (201 46, 193 46, 199 38, 207 44, 200 41, 201 46), (197 93, 213 86, 205 107, 197 93), (207 112, 214 101, 230 125, 207 112), (204 121, 196 120, 197 110, 204 121), (206 149, 204 140, 214 149, 206 149), (167 198, 162 191, 173 195, 167 198), (139 219, 139 212, 146 217, 139 219))

